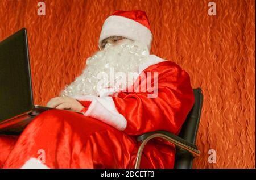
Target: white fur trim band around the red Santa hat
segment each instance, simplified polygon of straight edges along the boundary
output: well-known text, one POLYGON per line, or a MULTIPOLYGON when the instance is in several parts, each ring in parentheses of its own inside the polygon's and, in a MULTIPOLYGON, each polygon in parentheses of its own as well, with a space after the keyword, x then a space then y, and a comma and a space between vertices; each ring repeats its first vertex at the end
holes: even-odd
POLYGON ((148 51, 150 51, 152 33, 146 26, 135 20, 117 15, 109 16, 102 26, 99 44, 102 40, 110 36, 123 36, 139 41, 147 45, 148 51))

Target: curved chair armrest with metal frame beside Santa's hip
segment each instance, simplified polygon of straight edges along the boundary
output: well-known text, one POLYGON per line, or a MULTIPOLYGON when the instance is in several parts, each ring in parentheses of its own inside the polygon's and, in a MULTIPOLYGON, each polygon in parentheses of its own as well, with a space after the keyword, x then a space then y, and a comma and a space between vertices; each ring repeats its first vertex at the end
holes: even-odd
POLYGON ((179 136, 174 135, 173 133, 170 133, 167 131, 148 132, 137 137, 137 142, 142 142, 142 144, 139 146, 139 150, 137 153, 135 169, 139 168, 144 146, 147 144, 149 140, 154 138, 162 138, 164 140, 167 140, 168 142, 174 144, 175 146, 178 146, 179 148, 187 150, 194 157, 197 157, 200 155, 200 151, 197 149, 197 146, 195 144, 189 143, 188 141, 182 139, 179 136))

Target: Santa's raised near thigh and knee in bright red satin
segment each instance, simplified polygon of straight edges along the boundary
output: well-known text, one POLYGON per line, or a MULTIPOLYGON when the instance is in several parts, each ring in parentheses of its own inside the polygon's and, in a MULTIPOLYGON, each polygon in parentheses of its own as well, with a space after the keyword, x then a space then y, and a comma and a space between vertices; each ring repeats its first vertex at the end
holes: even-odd
POLYGON ((24 129, 6 167, 21 165, 43 150, 51 168, 124 168, 136 148, 133 137, 100 120, 71 111, 48 110, 24 129), (25 153, 20 156, 20 152, 25 153))

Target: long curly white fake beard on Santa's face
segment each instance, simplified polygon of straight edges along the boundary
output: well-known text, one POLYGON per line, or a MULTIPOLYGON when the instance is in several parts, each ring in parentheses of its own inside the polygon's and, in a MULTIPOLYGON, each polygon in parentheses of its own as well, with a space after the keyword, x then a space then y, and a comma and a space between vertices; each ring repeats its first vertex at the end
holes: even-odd
MULTIPOLYGON (((102 51, 96 52, 86 60, 86 68, 75 81, 60 92, 61 97, 75 97, 76 95, 100 96, 102 91, 108 89, 110 82, 110 69, 114 68, 114 82, 125 80, 125 83, 114 83, 114 92, 122 91, 133 85, 135 79, 128 78, 129 73, 139 74, 139 66, 148 61, 146 45, 138 41, 125 39, 119 45, 106 44, 102 51), (126 79, 116 76, 118 72, 125 73, 126 79), (99 78, 99 74, 108 74, 108 77, 99 78), (103 82, 103 83, 102 83, 103 82), (99 86, 99 84, 101 84, 99 86)), ((113 82, 113 80, 112 80, 113 82)))

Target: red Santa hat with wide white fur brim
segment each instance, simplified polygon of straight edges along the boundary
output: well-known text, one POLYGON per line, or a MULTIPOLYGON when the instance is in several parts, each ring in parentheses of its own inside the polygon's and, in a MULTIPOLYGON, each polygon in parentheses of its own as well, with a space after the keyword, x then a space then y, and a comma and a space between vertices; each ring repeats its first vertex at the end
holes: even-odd
POLYGON ((115 11, 104 22, 99 44, 110 36, 123 36, 151 48, 152 33, 144 11, 115 11))

